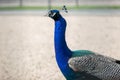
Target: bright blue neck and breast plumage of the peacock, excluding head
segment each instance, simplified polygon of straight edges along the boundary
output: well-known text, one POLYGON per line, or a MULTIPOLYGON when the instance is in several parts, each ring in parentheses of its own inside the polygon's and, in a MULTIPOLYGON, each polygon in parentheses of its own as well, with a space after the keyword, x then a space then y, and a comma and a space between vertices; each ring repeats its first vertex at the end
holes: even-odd
POLYGON ((72 75, 72 69, 68 66, 68 60, 72 56, 72 51, 68 48, 65 40, 66 21, 64 18, 59 17, 55 20, 55 53, 58 66, 66 78, 72 75))

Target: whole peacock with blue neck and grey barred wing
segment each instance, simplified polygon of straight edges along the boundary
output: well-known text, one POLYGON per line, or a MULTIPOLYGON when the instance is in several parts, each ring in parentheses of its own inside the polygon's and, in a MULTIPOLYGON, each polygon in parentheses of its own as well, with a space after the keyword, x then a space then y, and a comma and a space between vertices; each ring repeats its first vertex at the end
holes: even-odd
POLYGON ((65 39, 66 20, 59 10, 50 10, 48 16, 55 22, 55 57, 66 80, 120 80, 119 60, 89 50, 69 49, 65 39))

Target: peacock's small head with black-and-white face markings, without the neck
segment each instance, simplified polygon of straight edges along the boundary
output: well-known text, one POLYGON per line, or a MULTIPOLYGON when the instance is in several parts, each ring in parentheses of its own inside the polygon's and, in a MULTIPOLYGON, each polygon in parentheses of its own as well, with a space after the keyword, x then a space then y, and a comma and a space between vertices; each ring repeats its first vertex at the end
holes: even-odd
POLYGON ((54 20, 57 20, 61 17, 59 10, 50 10, 48 16, 54 20))

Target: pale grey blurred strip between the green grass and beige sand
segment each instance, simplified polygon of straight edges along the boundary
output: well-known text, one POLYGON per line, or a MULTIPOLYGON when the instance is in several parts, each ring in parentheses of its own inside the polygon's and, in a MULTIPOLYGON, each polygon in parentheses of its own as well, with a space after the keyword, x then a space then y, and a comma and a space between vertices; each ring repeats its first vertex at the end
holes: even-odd
MULTIPOLYGON (((48 13, 48 10, 1 10, 0 15, 30 15, 30 16, 44 16, 48 13)), ((81 9, 81 10, 68 10, 68 14, 61 11, 63 15, 94 15, 94 16, 106 16, 106 15, 120 15, 120 9, 81 9)))

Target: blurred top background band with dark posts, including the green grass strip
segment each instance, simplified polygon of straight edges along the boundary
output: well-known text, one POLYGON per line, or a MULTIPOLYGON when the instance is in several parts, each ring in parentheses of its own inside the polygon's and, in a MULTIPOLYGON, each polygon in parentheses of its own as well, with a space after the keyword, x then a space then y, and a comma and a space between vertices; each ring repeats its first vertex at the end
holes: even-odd
POLYGON ((0 10, 120 9, 120 0, 0 0, 0 10))

